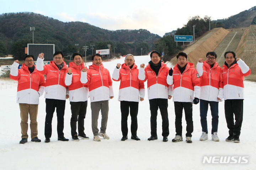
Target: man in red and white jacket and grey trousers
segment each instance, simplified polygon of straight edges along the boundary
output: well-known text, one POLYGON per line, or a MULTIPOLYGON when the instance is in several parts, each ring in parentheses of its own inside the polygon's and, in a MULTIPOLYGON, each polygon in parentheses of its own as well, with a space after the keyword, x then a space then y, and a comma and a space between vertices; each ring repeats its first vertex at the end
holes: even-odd
POLYGON ((95 54, 92 56, 92 65, 89 66, 88 73, 81 73, 81 83, 88 82, 91 111, 92 111, 92 132, 94 141, 101 141, 110 137, 106 134, 108 120, 108 100, 114 97, 112 80, 108 69, 103 67, 102 56, 95 54), (87 79, 86 79, 87 76, 87 79), (98 130, 98 115, 101 111, 101 128, 98 130))

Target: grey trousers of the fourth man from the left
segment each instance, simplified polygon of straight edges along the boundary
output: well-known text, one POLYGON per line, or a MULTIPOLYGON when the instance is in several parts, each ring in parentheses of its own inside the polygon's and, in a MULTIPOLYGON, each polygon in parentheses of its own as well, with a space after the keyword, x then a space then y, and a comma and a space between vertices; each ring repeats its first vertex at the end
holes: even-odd
POLYGON ((106 133, 108 119, 108 100, 91 102, 92 133, 98 135, 98 115, 101 111, 101 132, 106 133))

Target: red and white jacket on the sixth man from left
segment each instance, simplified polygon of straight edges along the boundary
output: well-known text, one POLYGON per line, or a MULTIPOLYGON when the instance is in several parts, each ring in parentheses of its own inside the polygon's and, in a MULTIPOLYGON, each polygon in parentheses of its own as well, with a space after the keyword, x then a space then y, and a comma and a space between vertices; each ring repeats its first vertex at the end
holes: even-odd
POLYGON ((166 77, 170 68, 163 62, 159 69, 158 75, 151 69, 150 64, 146 68, 139 68, 139 80, 148 80, 148 99, 168 98, 171 95, 172 87, 167 84, 166 77))

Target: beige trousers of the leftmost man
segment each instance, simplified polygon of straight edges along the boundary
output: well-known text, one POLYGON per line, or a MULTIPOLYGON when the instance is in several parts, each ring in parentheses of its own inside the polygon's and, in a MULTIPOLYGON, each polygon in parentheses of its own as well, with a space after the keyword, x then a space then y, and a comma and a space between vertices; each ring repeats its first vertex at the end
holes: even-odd
POLYGON ((19 103, 21 115, 21 138, 28 138, 28 113, 30 114, 31 139, 37 137, 38 104, 19 103))

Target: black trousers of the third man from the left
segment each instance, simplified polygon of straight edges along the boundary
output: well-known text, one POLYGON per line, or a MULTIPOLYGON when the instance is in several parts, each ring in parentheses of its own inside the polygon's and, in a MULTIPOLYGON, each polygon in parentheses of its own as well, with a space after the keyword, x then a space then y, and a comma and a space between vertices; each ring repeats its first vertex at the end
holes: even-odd
POLYGON ((71 135, 77 135, 76 122, 78 121, 78 134, 84 134, 84 119, 86 115, 87 101, 85 102, 70 102, 71 108, 71 135))

